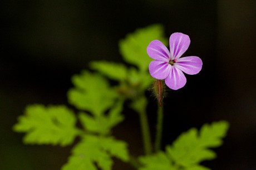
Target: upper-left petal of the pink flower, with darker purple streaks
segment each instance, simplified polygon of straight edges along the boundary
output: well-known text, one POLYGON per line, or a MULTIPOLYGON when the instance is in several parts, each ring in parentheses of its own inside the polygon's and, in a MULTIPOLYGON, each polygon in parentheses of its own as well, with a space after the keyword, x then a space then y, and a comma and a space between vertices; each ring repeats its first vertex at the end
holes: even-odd
POLYGON ((149 56, 155 60, 166 62, 169 62, 170 60, 169 50, 159 40, 153 40, 151 43, 149 43, 149 46, 147 46, 147 54, 149 54, 149 56))

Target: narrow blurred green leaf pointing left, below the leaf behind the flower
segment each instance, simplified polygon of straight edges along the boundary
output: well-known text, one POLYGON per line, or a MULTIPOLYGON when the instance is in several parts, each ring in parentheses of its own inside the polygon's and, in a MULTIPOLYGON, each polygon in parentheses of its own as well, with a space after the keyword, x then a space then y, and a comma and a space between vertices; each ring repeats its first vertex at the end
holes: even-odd
POLYGON ((99 71, 112 80, 124 81, 127 78, 127 68, 123 64, 108 61, 93 61, 90 63, 92 69, 99 71))

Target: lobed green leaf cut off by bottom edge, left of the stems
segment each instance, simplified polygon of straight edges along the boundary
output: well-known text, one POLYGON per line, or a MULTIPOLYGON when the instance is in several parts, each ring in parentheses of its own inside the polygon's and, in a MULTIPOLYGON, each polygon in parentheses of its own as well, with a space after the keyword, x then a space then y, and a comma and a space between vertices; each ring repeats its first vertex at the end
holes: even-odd
POLYGON ((96 170, 97 167, 110 170, 113 156, 125 162, 129 161, 127 144, 112 137, 87 135, 73 148, 72 155, 62 170, 96 170))

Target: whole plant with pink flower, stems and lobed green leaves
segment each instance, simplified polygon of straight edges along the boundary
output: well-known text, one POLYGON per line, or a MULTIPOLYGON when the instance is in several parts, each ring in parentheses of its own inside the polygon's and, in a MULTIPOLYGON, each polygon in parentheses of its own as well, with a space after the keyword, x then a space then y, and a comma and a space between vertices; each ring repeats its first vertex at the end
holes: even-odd
POLYGON ((29 105, 13 126, 14 131, 26 133, 23 138, 26 144, 67 146, 79 137, 80 141, 73 146, 67 163, 61 167, 65 170, 111 169, 114 164, 112 157, 140 170, 209 169, 201 166, 200 162, 216 157, 215 152, 209 148, 222 144, 228 122, 205 124, 200 130, 191 128, 182 133, 172 145, 165 146, 164 151, 161 150, 165 84, 170 89, 180 89, 186 83, 183 72, 197 74, 202 66, 197 56, 181 58, 190 44, 188 35, 172 34, 169 51, 164 45, 167 41, 163 34, 161 25, 151 25, 128 34, 120 41, 123 59, 134 66, 93 61, 90 67, 95 72, 82 71, 73 76, 74 87, 68 90, 67 96, 70 104, 80 110, 78 114, 63 105, 29 105), (151 61, 151 58, 155 60, 151 61), (116 81, 117 85, 110 86, 108 79, 116 81), (151 141, 147 122, 145 96, 145 91, 151 85, 154 86, 159 102, 154 141, 151 141), (129 106, 137 112, 141 123, 144 153, 139 157, 129 152, 129 143, 117 140, 111 133, 112 128, 125 119, 122 109, 126 100, 130 101, 129 106), (76 126, 77 120, 82 128, 76 126))

